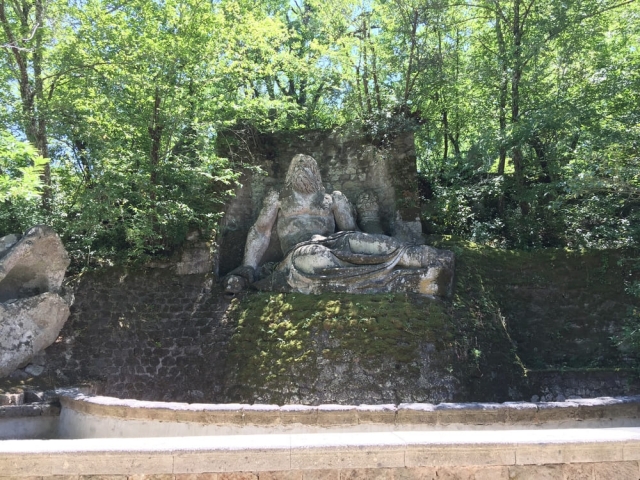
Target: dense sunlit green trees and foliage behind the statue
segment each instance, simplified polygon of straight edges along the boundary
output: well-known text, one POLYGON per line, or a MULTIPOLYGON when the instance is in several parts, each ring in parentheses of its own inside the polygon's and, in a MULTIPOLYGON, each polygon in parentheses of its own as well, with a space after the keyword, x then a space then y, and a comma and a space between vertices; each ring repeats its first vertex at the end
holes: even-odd
POLYGON ((432 232, 634 246, 639 47, 634 0, 0 0, 0 235, 167 252, 237 181, 219 132, 349 125, 415 131, 432 232))

